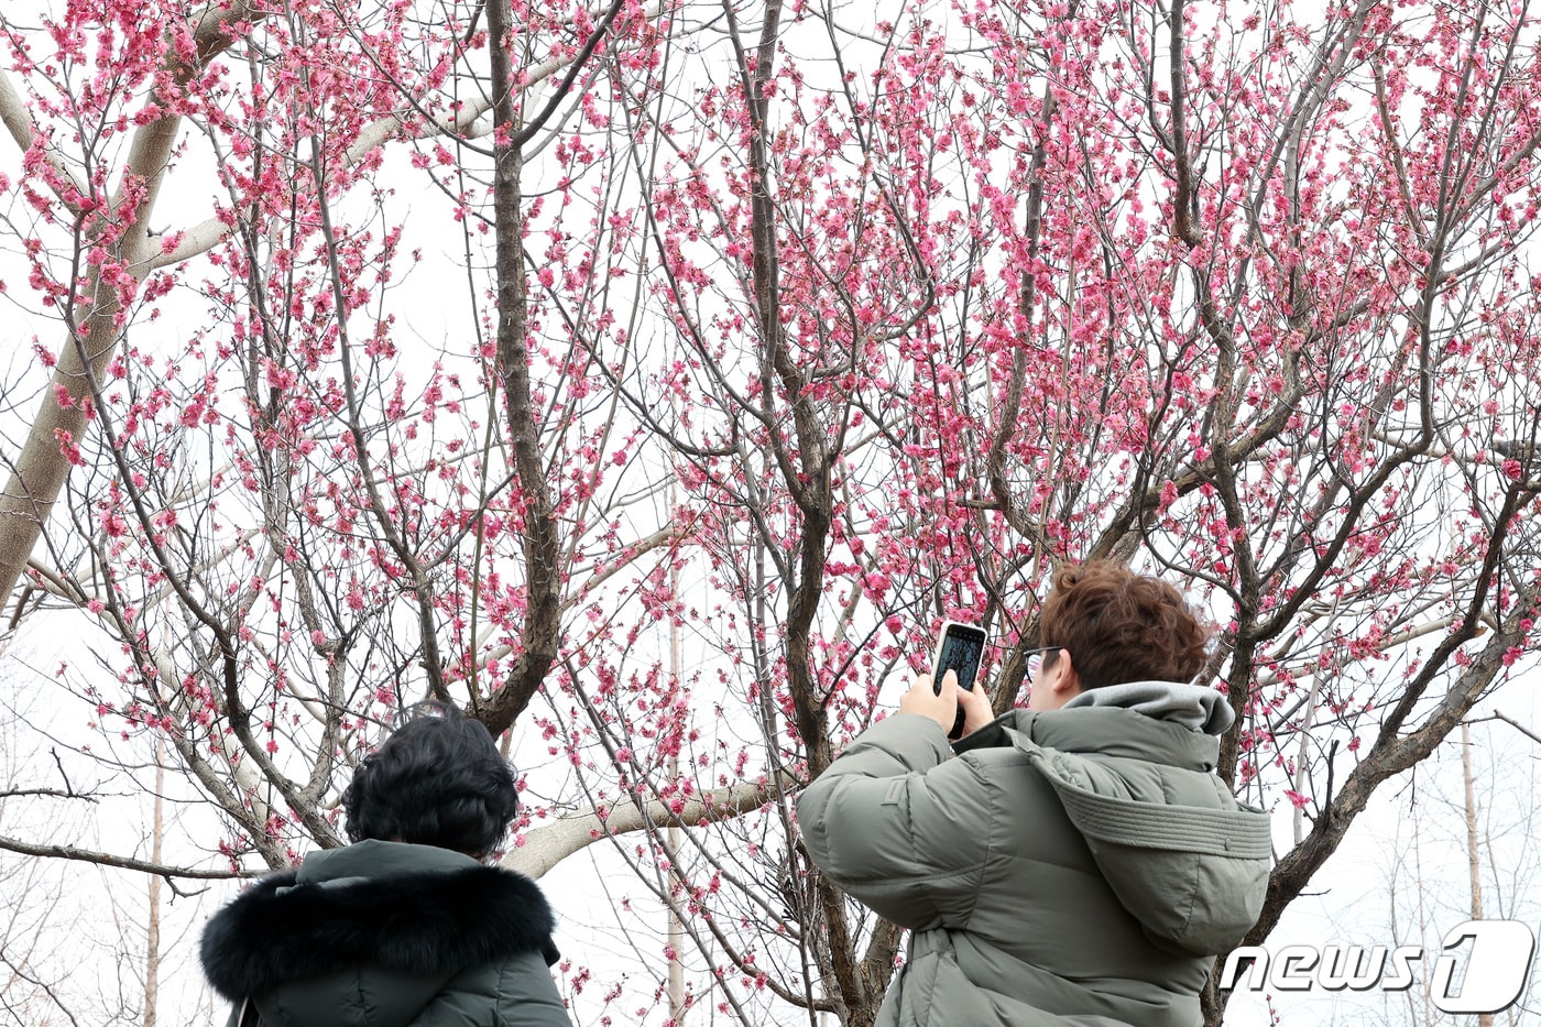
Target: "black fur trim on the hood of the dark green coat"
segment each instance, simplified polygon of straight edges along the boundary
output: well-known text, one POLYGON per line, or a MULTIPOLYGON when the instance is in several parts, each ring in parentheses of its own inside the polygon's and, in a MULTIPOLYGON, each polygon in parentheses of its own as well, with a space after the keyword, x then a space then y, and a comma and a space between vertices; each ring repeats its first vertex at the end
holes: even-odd
POLYGON ((203 973, 227 999, 359 964, 435 975, 527 951, 558 959, 552 907, 509 870, 294 881, 294 871, 264 877, 210 919, 203 973))

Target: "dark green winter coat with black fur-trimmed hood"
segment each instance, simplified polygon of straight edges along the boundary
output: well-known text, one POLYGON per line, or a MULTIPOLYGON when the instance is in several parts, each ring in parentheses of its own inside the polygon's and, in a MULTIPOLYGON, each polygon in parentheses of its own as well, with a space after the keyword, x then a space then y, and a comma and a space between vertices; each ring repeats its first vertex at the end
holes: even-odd
POLYGON ((430 845, 313 853, 220 910, 203 973, 262 1027, 572 1027, 533 881, 430 845))

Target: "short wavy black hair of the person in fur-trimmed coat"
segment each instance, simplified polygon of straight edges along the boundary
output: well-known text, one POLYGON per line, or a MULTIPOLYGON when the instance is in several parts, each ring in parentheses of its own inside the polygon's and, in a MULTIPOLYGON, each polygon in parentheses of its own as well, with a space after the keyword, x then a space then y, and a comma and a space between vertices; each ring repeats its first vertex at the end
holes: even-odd
POLYGON ((481 859, 519 810, 513 768, 487 728, 445 703, 422 703, 353 771, 342 794, 350 842, 436 845, 481 859))

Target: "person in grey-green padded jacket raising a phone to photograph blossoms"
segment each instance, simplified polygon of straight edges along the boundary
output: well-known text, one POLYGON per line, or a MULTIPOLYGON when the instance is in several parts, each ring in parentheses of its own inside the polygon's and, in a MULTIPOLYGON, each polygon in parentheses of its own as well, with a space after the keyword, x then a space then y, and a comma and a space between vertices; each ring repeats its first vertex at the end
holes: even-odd
POLYGON ((798 797, 814 864, 912 931, 878 1027, 1196 1027, 1262 910, 1268 816, 1214 774, 1233 712, 1182 595, 1063 567, 1039 635, 1026 709, 922 674, 798 797))

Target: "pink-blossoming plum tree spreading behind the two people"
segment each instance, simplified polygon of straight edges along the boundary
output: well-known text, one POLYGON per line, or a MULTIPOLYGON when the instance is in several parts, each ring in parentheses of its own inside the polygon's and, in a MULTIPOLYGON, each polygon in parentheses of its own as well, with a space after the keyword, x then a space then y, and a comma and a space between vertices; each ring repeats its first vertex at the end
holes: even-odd
POLYGON ((660 1019, 871 1024, 901 933, 791 796, 942 617, 1006 709, 1065 560, 1211 611, 1251 942, 1535 648, 1523 5, 59 6, 0 15, 0 594, 231 867, 431 695, 553 760, 512 865, 667 907, 660 1019))

